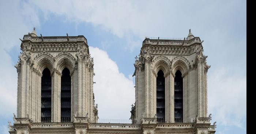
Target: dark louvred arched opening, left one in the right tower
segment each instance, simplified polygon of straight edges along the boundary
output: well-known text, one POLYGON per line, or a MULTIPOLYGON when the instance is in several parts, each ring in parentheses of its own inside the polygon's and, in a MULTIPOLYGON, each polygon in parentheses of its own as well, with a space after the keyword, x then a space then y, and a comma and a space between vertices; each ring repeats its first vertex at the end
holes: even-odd
POLYGON ((165 122, 165 77, 162 70, 157 73, 157 121, 165 122))

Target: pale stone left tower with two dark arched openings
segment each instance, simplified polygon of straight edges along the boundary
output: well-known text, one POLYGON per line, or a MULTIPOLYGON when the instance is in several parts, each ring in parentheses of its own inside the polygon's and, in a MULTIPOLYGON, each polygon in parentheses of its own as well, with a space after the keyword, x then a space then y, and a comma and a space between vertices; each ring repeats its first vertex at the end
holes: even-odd
MULTIPOLYGON (((31 122, 97 122, 93 58, 84 36, 24 35, 16 64, 17 117, 31 122)), ((17 129, 17 133, 18 133, 17 129)))

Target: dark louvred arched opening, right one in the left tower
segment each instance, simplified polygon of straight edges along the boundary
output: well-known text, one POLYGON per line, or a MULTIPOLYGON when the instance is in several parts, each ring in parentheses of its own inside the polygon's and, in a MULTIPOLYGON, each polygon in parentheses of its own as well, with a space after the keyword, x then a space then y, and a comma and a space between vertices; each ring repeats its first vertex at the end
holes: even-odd
POLYGON ((68 68, 62 71, 60 108, 60 121, 71 122, 71 76, 68 68))

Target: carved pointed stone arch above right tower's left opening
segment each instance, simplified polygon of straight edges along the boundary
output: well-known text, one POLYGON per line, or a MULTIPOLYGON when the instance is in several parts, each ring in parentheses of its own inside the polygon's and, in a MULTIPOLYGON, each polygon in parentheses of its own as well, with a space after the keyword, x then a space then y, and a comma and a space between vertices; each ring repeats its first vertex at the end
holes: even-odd
POLYGON ((159 70, 163 71, 163 74, 166 75, 170 70, 170 65, 172 62, 166 56, 157 56, 153 59, 154 63, 154 72, 157 74, 159 70))

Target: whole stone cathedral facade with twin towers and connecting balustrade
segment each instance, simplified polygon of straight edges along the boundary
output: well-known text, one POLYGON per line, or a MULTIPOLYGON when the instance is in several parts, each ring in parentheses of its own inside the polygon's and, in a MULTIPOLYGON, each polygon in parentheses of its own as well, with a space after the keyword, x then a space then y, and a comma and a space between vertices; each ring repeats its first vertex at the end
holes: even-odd
POLYGON ((207 56, 199 37, 146 38, 134 63, 131 124, 97 123, 94 63, 84 36, 21 40, 17 113, 10 134, 214 134, 207 116, 207 56))

